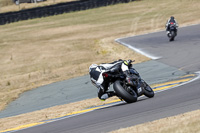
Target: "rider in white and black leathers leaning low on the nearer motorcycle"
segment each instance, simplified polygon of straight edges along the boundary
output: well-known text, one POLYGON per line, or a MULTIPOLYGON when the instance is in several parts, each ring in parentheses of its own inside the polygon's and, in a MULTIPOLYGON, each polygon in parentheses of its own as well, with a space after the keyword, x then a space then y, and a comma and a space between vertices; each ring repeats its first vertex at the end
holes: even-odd
POLYGON ((105 101, 109 97, 116 96, 114 91, 108 91, 109 83, 104 81, 102 74, 104 72, 113 73, 113 78, 118 78, 122 75, 125 76, 131 62, 131 60, 126 61, 119 59, 111 63, 103 63, 100 65, 92 64, 89 67, 90 80, 92 84, 98 88, 98 97, 100 100, 105 101), (121 74, 116 75, 116 73, 121 74))

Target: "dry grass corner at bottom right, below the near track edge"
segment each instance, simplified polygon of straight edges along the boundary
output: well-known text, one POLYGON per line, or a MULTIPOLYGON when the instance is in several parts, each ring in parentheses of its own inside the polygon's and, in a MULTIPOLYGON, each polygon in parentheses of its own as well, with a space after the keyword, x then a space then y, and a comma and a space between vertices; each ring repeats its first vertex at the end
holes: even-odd
POLYGON ((200 133, 200 110, 123 128, 109 133, 200 133))

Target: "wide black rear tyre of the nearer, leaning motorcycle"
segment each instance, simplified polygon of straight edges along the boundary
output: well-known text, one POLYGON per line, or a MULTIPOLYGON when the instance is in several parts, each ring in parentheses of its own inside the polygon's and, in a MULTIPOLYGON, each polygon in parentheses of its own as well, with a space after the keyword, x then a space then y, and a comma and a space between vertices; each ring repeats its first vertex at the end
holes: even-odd
POLYGON ((130 91, 125 90, 121 81, 117 80, 113 84, 113 89, 115 90, 117 96, 121 97, 127 103, 133 103, 137 101, 136 92, 131 89, 130 91))

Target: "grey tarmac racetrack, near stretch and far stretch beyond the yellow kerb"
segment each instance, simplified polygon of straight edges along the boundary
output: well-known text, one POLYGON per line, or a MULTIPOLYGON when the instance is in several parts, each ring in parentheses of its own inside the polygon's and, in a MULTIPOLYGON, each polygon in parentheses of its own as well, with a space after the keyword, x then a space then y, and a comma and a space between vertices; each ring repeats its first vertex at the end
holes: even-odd
MULTIPOLYGON (((200 72, 199 31, 200 25, 179 28, 178 36, 173 42, 168 41, 165 31, 117 39, 116 41, 140 52, 142 51, 147 56, 155 58, 156 62, 174 67, 177 71, 184 71, 187 74, 196 73, 198 75, 200 72)), ((166 71, 168 69, 162 69, 159 73, 152 73, 149 76, 153 77, 166 71)), ((120 103, 17 132, 108 132, 196 109, 200 109, 200 79, 156 93, 155 97, 151 99, 142 98, 132 104, 120 103)))

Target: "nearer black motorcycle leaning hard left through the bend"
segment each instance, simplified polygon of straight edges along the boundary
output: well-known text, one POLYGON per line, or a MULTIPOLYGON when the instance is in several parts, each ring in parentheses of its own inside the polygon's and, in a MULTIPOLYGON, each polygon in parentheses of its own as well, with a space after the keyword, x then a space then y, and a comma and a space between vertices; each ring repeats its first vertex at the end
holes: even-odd
POLYGON ((127 103, 136 102, 138 97, 143 94, 149 98, 154 97, 152 88, 141 79, 139 73, 132 67, 129 67, 128 72, 123 75, 113 76, 109 72, 104 72, 102 75, 106 82, 113 84, 116 96, 127 103))

